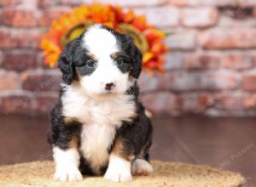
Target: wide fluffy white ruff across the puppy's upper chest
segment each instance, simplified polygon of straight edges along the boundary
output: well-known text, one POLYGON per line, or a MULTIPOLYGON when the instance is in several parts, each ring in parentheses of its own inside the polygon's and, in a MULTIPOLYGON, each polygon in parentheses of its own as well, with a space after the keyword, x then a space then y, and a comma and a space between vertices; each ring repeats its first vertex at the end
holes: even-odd
POLYGON ((67 88, 62 98, 63 114, 84 124, 119 126, 136 115, 133 95, 117 95, 111 99, 95 100, 74 88, 67 88))

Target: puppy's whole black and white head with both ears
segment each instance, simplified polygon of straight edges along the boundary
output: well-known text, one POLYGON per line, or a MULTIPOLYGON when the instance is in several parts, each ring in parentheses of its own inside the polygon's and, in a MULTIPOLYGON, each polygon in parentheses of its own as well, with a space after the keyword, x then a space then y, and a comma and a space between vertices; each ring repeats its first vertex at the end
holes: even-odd
POLYGON ((95 25, 67 43, 58 66, 64 82, 78 81, 90 95, 124 94, 142 71, 142 54, 128 35, 95 25))

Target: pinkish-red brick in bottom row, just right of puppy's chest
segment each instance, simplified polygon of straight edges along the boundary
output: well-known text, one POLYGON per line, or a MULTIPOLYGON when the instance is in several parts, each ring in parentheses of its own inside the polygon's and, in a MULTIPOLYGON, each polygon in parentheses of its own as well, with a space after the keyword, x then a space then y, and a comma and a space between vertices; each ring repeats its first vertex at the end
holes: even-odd
POLYGON ((158 115, 173 114, 180 107, 178 97, 170 93, 146 94, 141 99, 148 111, 158 115))

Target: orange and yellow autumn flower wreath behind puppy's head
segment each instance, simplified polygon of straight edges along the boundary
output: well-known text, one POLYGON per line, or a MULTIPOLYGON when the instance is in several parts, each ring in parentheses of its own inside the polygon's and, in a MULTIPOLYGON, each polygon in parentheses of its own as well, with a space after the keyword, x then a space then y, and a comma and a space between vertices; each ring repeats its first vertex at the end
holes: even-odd
POLYGON ((125 11, 119 5, 101 3, 81 5, 53 21, 41 43, 45 64, 55 67, 67 42, 79 37, 88 26, 95 23, 129 34, 143 53, 143 70, 150 73, 163 71, 165 33, 148 24, 143 14, 136 15, 132 9, 125 11))

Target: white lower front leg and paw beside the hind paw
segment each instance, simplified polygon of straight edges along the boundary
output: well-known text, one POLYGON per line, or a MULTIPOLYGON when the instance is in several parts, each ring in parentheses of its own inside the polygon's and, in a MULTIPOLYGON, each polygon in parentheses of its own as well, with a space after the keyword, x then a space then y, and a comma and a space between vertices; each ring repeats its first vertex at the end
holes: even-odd
POLYGON ((131 161, 126 161, 119 156, 109 157, 108 170, 104 178, 113 182, 125 182, 131 180, 131 161))

